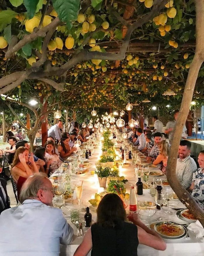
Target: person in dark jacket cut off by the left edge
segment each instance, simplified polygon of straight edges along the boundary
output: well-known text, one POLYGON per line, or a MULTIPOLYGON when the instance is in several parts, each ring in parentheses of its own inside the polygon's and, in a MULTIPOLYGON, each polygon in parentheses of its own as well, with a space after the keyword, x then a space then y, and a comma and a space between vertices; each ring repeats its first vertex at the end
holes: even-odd
MULTIPOLYGON (((0 173, 2 172, 2 168, 0 168, 0 173)), ((8 197, 8 193, 6 190, 6 180, 0 178, 0 214, 4 210, 10 208, 10 199, 8 197)))

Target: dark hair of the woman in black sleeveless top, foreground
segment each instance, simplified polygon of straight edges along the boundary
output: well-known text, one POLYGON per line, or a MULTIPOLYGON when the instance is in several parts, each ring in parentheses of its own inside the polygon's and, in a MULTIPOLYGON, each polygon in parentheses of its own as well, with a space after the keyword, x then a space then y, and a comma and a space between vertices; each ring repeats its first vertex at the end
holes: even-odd
POLYGON ((97 209, 97 224, 113 228, 125 219, 126 212, 121 198, 114 193, 105 195, 97 209))

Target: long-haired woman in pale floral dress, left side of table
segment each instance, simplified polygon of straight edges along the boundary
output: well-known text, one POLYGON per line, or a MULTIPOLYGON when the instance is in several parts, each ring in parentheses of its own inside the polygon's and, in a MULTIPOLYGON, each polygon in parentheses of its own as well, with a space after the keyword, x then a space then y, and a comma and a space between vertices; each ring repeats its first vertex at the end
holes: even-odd
POLYGON ((46 148, 46 152, 45 152, 45 159, 47 164, 46 173, 47 174, 49 174, 49 172, 54 173, 55 170, 59 168, 59 165, 62 163, 62 161, 59 159, 59 156, 55 152, 55 146, 52 140, 46 141, 44 147, 46 148), (50 165, 48 166, 49 163, 50 165))

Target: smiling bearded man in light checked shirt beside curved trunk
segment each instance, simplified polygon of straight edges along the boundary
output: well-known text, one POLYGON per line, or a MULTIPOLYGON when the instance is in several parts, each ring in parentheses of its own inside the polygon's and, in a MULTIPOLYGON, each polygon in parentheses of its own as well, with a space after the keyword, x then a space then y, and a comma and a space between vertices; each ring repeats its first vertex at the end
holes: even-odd
POLYGON ((191 142, 188 140, 181 140, 176 165, 176 175, 180 183, 185 189, 188 189, 192 183, 193 172, 196 171, 197 166, 194 159, 190 156, 191 142))

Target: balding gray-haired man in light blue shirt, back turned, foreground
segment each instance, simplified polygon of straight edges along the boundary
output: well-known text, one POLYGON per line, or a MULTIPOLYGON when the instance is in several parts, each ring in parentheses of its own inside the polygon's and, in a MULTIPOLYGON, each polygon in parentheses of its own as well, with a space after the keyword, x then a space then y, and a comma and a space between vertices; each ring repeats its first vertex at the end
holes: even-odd
POLYGON ((52 183, 38 173, 22 186, 22 205, 0 215, 0 255, 59 256, 59 244, 71 243, 73 228, 62 211, 52 207, 52 183))

